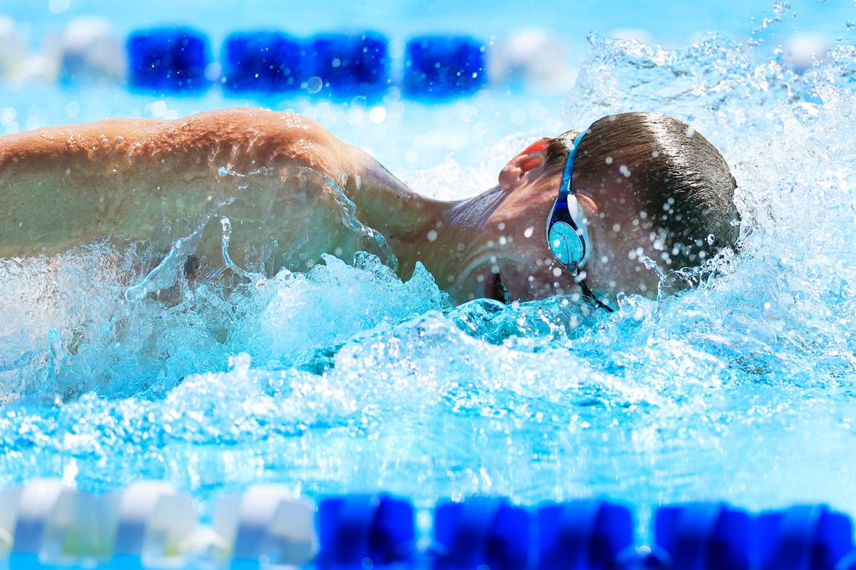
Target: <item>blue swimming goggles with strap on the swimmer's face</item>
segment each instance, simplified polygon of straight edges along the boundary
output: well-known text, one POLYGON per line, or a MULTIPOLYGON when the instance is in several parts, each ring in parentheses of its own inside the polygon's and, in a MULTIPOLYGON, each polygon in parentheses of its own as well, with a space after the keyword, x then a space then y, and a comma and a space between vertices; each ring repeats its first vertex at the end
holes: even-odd
POLYGON ((553 256, 574 275, 583 294, 597 307, 613 313, 615 309, 597 298, 586 285, 585 279, 576 279, 580 270, 586 267, 586 261, 591 253, 588 222, 574 194, 574 158, 585 134, 586 131, 580 132, 574 139, 571 150, 568 151, 565 169, 562 172, 562 183, 559 185, 559 195, 553 203, 553 209, 550 210, 550 217, 547 218, 547 244, 550 245, 553 256))

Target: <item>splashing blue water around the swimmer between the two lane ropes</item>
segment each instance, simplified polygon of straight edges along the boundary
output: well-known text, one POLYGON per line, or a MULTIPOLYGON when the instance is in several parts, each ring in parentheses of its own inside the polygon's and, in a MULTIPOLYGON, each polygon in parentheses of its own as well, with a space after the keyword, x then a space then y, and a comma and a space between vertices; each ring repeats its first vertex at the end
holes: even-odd
MULTIPOLYGON (((770 26, 796 26, 785 16, 770 26)), ((205 503, 281 481, 419 503, 603 493, 856 513, 856 53, 842 43, 797 75, 768 48, 595 36, 567 95, 385 101, 380 122, 360 102, 267 102, 438 197, 487 188, 535 135, 627 110, 675 115, 732 167, 743 252, 693 291, 626 297, 593 319, 559 297, 453 307, 424 269, 401 282, 372 255, 245 280, 229 297, 215 281, 137 302, 124 293, 154 248, 0 260, 0 485, 151 477, 205 503)), ((3 87, 18 128, 235 104, 41 89, 3 87)), ((164 226, 152 241, 185 235, 164 226)))

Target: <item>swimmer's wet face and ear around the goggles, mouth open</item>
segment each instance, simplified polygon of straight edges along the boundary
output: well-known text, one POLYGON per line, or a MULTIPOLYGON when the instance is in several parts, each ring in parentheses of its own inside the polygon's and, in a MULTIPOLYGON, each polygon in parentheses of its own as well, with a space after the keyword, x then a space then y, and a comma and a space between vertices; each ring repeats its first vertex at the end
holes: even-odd
MULTIPOLYGON (((455 297, 509 302, 580 291, 547 244, 547 217, 562 172, 545 171, 544 150, 533 144, 502 169, 496 207, 485 215, 473 243, 467 244, 455 297)), ((621 187, 602 190, 597 202, 578 192, 591 238, 586 283, 610 299, 621 291, 653 296, 659 279, 638 255, 639 247, 647 250, 651 245, 649 231, 639 223, 639 204, 621 187)))

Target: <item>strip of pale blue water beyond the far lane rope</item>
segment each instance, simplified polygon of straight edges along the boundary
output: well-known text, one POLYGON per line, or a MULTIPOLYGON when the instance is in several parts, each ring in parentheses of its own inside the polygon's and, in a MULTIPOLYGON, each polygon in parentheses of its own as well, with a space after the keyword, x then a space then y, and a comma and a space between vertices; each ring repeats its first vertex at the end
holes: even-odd
MULTIPOLYGON (((582 45, 591 31, 609 32, 636 28, 653 33, 658 42, 682 42, 694 32, 716 30, 744 38, 762 28, 764 19, 775 18, 774 2, 693 3, 657 0, 543 0, 531 9, 514 3, 490 0, 318 0, 317 2, 271 4, 268 0, 149 0, 145 3, 114 3, 110 0, 4 0, 0 13, 27 24, 33 44, 43 44, 50 32, 68 21, 98 15, 110 20, 117 32, 134 28, 184 23, 211 35, 215 43, 229 32, 241 29, 282 29, 289 33, 311 34, 342 29, 375 29, 393 38, 407 38, 426 32, 474 34, 482 38, 502 38, 523 27, 543 27, 582 45), (664 17, 665 15, 668 17, 664 17)), ((856 19, 851 0, 790 0, 777 2, 787 7, 786 25, 759 30, 762 36, 783 38, 801 30, 830 38, 850 35, 845 23, 856 19), (797 21, 788 18, 791 12, 797 21)), ((582 54, 580 54, 582 56, 582 54)))

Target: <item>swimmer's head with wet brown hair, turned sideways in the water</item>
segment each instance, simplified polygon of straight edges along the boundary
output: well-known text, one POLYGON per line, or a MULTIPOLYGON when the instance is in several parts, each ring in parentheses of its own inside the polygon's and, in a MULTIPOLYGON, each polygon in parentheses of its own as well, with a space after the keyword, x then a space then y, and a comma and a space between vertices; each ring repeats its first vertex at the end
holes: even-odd
MULTIPOLYGON (((473 264, 479 267, 465 278, 477 279, 473 286, 484 286, 485 296, 528 300, 579 291, 544 235, 577 134, 543 138, 502 169, 502 195, 474 244, 490 264, 473 264)), ((680 120, 627 113, 595 121, 576 150, 573 187, 591 238, 582 276, 608 300, 621 291, 656 296, 652 262, 669 273, 736 248, 734 177, 716 148, 680 120)))

